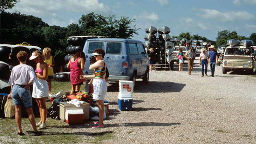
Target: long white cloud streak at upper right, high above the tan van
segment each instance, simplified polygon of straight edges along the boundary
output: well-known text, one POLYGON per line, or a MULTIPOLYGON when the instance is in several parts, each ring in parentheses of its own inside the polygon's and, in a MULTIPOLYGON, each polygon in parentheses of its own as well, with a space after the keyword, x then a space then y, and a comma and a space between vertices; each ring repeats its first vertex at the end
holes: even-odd
POLYGON ((203 18, 221 22, 247 21, 254 18, 253 14, 246 11, 220 12, 218 10, 202 9, 202 12, 204 12, 201 15, 203 18))

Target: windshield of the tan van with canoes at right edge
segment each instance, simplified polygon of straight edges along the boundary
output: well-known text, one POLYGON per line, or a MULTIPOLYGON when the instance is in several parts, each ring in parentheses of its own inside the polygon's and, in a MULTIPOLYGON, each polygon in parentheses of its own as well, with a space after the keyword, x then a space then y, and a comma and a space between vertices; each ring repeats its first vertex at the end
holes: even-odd
POLYGON ((252 48, 227 48, 225 54, 252 56, 252 48))

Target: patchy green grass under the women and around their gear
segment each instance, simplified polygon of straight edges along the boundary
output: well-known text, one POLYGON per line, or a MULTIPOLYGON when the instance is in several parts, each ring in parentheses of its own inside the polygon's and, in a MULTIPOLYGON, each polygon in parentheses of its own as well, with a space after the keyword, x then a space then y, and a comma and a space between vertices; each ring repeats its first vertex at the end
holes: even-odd
MULTIPOLYGON (((84 87, 81 86, 81 90, 84 87)), ((59 91, 65 93, 65 91, 71 90, 70 82, 52 82, 52 92, 57 93, 59 91)), ((47 102, 47 108, 51 106, 50 102, 47 102)), ((36 118, 36 122, 40 121, 40 118, 36 118)), ((4 144, 100 144, 102 140, 110 140, 114 138, 114 131, 108 131, 107 129, 94 130, 92 132, 90 121, 86 121, 83 124, 68 125, 62 120, 55 120, 47 118, 46 129, 41 130, 43 136, 34 136, 32 132, 32 126, 28 118, 22 118, 22 131, 25 136, 18 136, 17 125, 14 118, 0 118, 0 143, 4 144), (102 132, 103 131, 103 132, 102 132), (4 137, 4 138, 3 138, 4 137)))

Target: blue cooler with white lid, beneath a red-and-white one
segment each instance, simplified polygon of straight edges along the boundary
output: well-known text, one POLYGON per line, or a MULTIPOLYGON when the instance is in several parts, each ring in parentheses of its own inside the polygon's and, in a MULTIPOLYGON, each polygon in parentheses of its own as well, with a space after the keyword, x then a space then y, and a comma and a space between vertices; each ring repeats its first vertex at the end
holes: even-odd
POLYGON ((120 110, 132 110, 132 94, 118 94, 118 108, 120 110))

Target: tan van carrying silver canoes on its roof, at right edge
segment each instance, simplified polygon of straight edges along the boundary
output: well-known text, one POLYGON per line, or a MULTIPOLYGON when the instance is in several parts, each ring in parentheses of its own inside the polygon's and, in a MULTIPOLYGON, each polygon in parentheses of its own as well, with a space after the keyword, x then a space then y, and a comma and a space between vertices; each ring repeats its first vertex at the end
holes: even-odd
POLYGON ((252 40, 228 40, 224 52, 222 73, 230 70, 246 70, 255 75, 253 41, 252 40))

